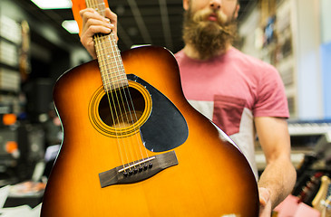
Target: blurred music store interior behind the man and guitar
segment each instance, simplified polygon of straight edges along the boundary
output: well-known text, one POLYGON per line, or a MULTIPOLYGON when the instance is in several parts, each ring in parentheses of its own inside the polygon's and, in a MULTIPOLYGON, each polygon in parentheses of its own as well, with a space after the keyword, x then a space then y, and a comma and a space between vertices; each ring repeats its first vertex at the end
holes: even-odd
MULTIPOLYGON (((64 8, 42 8, 32 0, 0 0, 0 187, 11 186, 5 207, 33 209, 41 203, 63 138, 54 84, 64 71, 92 60, 78 33, 63 27, 73 21, 68 2, 64 8)), ((291 157, 300 175, 293 194, 302 194, 317 175, 315 189, 303 200, 313 206, 321 177, 330 177, 331 168, 331 1, 239 2, 236 47, 268 61, 281 75, 291 115, 291 157)), ((181 0, 111 0, 109 5, 118 14, 121 51, 140 44, 174 53, 182 48, 181 0)), ((256 158, 263 171, 258 141, 256 158)))

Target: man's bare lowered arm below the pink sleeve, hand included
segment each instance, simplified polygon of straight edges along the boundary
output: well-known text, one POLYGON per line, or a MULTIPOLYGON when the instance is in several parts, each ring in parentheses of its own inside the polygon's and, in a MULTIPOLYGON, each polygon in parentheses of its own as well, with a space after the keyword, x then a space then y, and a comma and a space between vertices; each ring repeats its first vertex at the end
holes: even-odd
POLYGON ((285 118, 255 118, 258 139, 267 159, 259 178, 260 216, 270 212, 291 193, 296 169, 290 159, 290 139, 285 118))

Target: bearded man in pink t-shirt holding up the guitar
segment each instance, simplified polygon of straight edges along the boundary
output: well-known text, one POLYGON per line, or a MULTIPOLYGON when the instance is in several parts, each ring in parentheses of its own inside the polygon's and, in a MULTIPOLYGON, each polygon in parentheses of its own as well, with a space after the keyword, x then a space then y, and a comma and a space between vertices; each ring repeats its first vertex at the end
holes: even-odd
MULTIPOLYGON (((185 97, 240 147, 258 180, 259 216, 270 216, 296 181, 283 83, 274 67, 232 46, 238 0, 183 0, 183 7, 185 46, 175 57, 185 97), (259 177, 254 155, 256 134, 267 159, 259 177)), ((80 14, 81 42, 96 58, 92 36, 116 33, 117 16, 109 8, 108 18, 91 8, 80 14)))

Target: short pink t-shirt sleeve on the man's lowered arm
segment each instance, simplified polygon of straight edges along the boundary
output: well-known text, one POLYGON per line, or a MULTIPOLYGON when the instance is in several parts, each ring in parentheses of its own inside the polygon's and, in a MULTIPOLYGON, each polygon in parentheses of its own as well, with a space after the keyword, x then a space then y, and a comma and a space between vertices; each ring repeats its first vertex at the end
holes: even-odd
POLYGON ((278 71, 265 65, 260 72, 254 116, 289 118, 285 88, 278 71))

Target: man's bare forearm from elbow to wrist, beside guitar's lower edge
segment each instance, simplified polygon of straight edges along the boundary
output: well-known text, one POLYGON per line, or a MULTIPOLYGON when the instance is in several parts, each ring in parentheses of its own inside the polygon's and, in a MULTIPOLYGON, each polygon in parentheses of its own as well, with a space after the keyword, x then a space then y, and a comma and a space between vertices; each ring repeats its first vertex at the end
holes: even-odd
POLYGON ((288 157, 268 163, 259 178, 258 187, 267 188, 270 193, 272 209, 292 192, 296 183, 296 169, 288 157))

